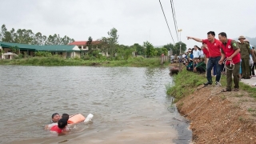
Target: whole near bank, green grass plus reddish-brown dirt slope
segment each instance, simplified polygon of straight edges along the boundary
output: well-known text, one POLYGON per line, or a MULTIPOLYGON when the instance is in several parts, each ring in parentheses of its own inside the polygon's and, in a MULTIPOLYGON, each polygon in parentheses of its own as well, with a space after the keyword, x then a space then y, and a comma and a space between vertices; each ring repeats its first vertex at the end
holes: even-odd
MULTIPOLYGON (((213 78, 214 80, 214 78, 213 78)), ((255 143, 256 89, 240 82, 239 91, 221 92, 222 86, 205 86, 205 74, 182 70, 167 93, 174 96, 180 114, 190 121, 194 143, 255 143)))

